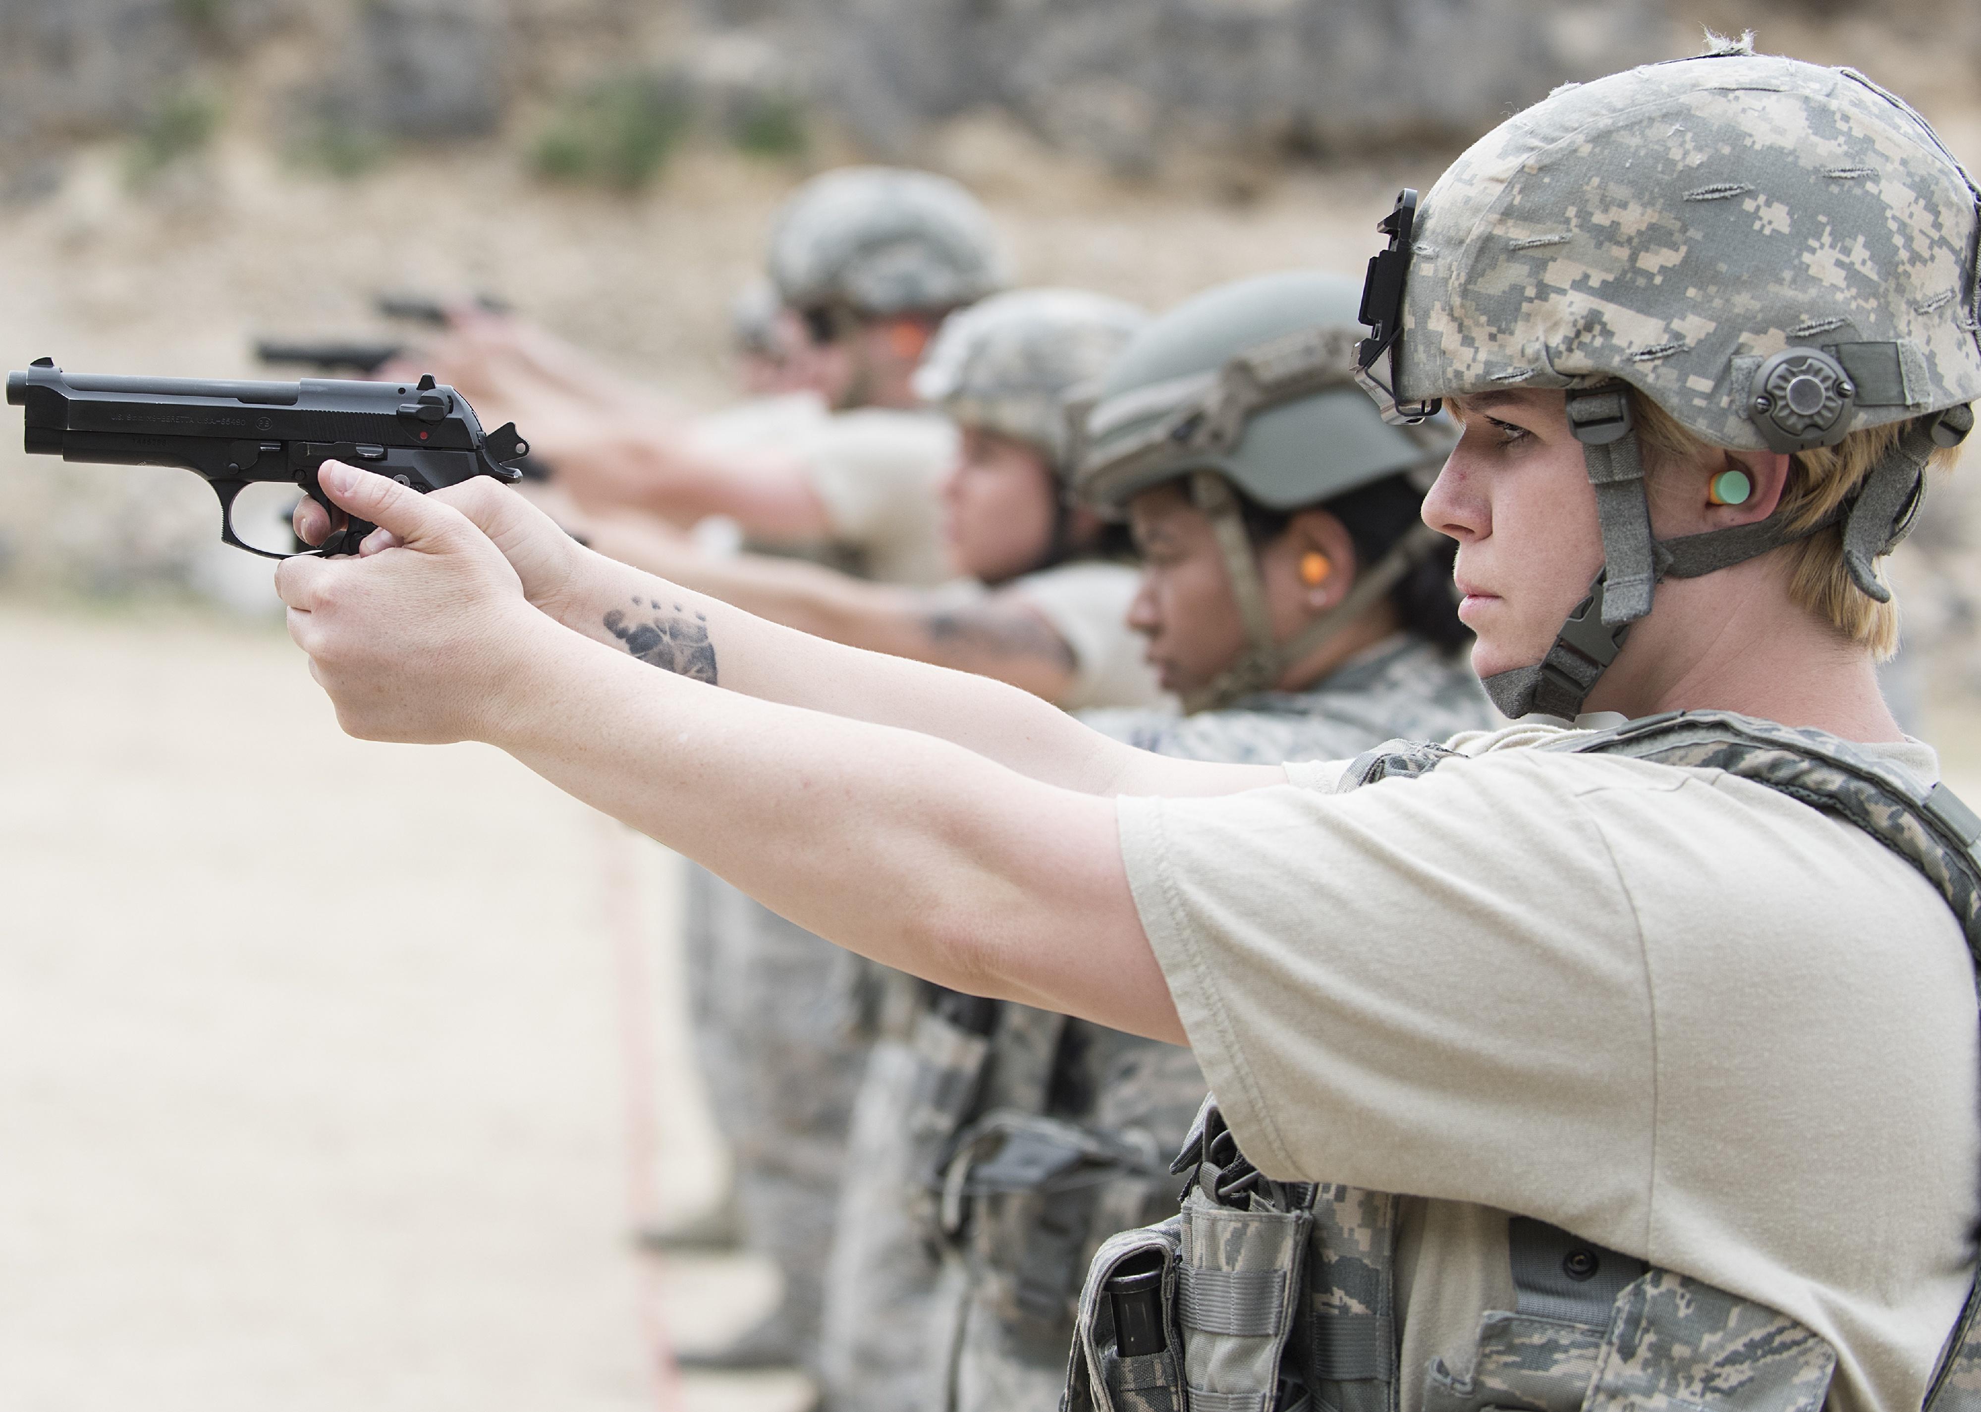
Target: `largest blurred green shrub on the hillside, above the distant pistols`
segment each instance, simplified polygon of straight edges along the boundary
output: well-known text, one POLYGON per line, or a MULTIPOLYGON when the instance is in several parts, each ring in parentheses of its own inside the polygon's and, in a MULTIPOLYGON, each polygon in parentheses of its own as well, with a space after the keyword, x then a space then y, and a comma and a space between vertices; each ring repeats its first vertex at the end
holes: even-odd
POLYGON ((632 192, 668 164, 693 125, 693 103, 674 75, 618 73, 563 99, 531 164, 559 182, 632 192))

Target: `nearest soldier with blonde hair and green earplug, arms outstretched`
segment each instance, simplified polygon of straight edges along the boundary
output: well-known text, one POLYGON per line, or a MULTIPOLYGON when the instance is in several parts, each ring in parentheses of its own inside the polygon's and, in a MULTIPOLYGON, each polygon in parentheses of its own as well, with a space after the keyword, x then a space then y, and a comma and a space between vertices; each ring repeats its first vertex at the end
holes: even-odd
POLYGON ((1874 656, 1981 396, 1977 204, 1862 75, 1739 48, 1399 202, 1357 362, 1464 426, 1424 519, 1488 689, 1581 725, 1171 760, 497 485, 341 469, 406 547, 277 578, 349 729, 497 741, 876 958, 1189 1038, 1220 1103, 1183 1216, 1095 1258, 1074 1408, 1965 1412, 1981 816, 1874 656))

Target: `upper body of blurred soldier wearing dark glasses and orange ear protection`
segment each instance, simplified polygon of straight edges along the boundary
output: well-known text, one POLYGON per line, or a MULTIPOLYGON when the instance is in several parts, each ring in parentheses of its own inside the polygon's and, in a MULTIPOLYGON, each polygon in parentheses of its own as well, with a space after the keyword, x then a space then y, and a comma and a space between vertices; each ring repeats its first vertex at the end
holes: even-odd
POLYGON ((422 366, 527 424, 559 485, 590 511, 683 527, 723 515, 757 545, 832 547, 872 578, 941 582, 937 487, 955 463, 955 428, 921 408, 913 374, 945 315, 1006 283, 989 214, 929 172, 824 172, 779 212, 767 273, 782 309, 773 327, 804 327, 794 376, 834 412, 771 436, 711 438, 505 319, 466 317, 422 366))

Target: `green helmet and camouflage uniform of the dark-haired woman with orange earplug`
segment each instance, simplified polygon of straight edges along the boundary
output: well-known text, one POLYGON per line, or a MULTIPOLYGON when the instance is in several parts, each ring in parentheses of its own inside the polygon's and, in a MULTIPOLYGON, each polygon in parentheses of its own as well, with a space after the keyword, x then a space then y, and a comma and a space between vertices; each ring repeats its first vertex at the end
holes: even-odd
MULTIPOLYGON (((1226 285, 1163 315, 1097 382, 1097 404, 1068 448, 1076 493, 1117 513, 1153 485, 1191 477, 1204 491, 1214 477, 1300 509, 1420 469, 1446 442, 1385 428, 1353 388, 1353 285, 1300 271, 1226 285), (1333 452, 1317 455, 1317 446, 1333 452)), ((1236 529, 1234 499, 1206 515, 1236 529)), ((1234 594, 1250 590, 1262 604, 1244 531, 1220 551, 1234 594)), ((1464 661, 1407 634, 1307 691, 1260 689, 1389 592, 1397 580, 1385 566, 1418 555, 1408 531, 1375 553, 1363 568, 1371 588, 1349 614, 1315 620, 1319 636, 1278 642, 1248 614, 1236 665, 1199 693, 1195 715, 1082 719, 1141 749, 1232 762, 1486 725, 1492 709, 1464 661)), ((911 1038, 876 1048, 862 1087, 828 1279, 834 1404, 1054 1406, 1082 1263, 1109 1230, 1171 1200, 1161 1153, 1202 1089, 1185 1050, 937 994, 911 1038)))

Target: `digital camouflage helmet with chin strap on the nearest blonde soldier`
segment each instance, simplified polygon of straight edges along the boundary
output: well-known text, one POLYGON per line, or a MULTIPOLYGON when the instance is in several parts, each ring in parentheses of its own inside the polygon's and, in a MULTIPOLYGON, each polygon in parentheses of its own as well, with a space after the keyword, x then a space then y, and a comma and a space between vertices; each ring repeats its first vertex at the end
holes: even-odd
POLYGON ((1890 598, 1872 564, 1981 396, 1977 198, 1898 97, 1745 42, 1557 89, 1474 143, 1420 208, 1399 198, 1365 287, 1365 388, 1399 420, 1446 396, 1561 388, 1597 485, 1605 572, 1547 661, 1488 681, 1502 711, 1573 717, 1658 578, 1836 523, 1856 584, 1890 598), (1918 420, 1834 519, 1658 545, 1624 386, 1745 452, 1918 420))

